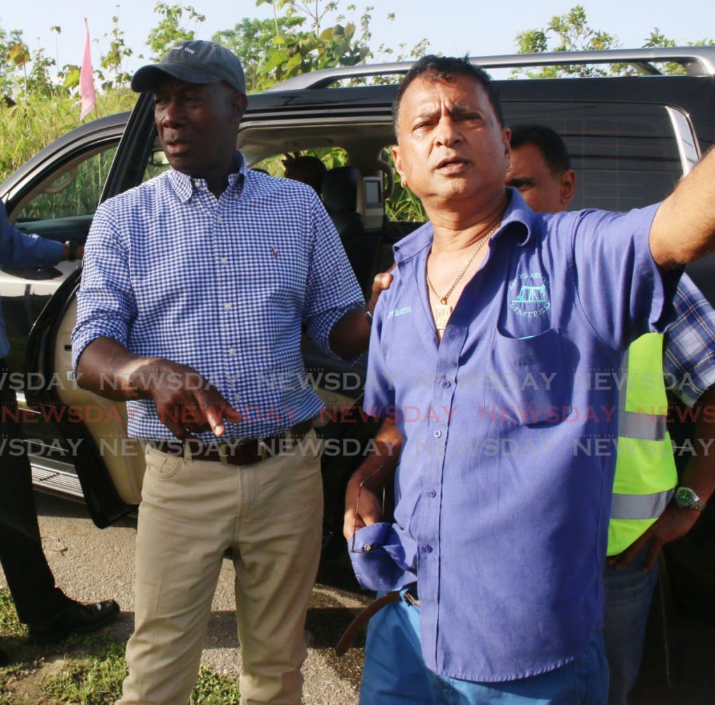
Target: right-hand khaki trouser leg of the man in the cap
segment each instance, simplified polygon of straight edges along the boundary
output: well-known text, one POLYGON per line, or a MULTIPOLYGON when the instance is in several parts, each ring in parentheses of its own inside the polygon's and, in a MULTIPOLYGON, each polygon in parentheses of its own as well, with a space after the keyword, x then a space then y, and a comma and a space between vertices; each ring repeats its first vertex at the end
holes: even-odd
POLYGON ((297 450, 242 470, 234 546, 241 703, 298 705, 305 616, 320 560, 320 458, 297 450))

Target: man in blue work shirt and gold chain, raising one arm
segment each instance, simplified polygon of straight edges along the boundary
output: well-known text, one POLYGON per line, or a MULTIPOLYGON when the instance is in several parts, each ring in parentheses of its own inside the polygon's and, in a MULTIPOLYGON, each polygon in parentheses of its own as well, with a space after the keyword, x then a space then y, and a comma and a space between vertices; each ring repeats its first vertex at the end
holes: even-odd
POLYGON ((715 154, 659 208, 536 215, 504 189, 490 79, 438 57, 405 77, 395 132, 430 223, 396 245, 370 343, 365 408, 405 441, 395 521, 351 556, 364 585, 418 595, 373 617, 362 702, 603 703, 617 390, 582 381, 671 319, 679 266, 715 239, 715 154))

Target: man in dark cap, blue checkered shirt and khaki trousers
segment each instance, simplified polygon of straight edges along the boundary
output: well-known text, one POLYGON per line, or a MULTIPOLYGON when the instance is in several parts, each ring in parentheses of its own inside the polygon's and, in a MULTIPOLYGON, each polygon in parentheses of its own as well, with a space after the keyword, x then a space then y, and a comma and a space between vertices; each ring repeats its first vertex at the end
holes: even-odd
POLYGON ((235 151, 234 54, 182 42, 132 88, 154 94, 172 169, 97 210, 73 334, 80 384, 127 400, 129 435, 149 440, 121 703, 189 699, 231 550, 242 704, 297 705, 322 533, 302 326, 355 356, 363 296, 315 191, 235 151))

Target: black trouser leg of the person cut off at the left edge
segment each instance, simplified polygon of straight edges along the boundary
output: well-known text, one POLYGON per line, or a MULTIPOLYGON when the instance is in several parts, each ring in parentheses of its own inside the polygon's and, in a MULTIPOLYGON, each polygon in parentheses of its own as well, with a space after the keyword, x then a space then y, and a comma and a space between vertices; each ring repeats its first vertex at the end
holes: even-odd
MULTIPOLYGON (((0 361, 0 377, 7 368, 0 361)), ((1 384, 1 383, 0 383, 1 384)), ((0 389, 0 563, 18 618, 43 621, 66 605, 42 550, 32 475, 15 393, 0 389)))

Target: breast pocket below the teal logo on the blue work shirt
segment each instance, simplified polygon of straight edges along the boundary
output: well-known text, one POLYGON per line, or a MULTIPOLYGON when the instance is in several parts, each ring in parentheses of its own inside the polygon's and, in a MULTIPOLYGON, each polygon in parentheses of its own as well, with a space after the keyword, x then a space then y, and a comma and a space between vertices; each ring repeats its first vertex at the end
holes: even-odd
POLYGON ((554 425, 571 414, 576 346, 558 330, 528 338, 494 331, 484 405, 525 426, 554 425))

